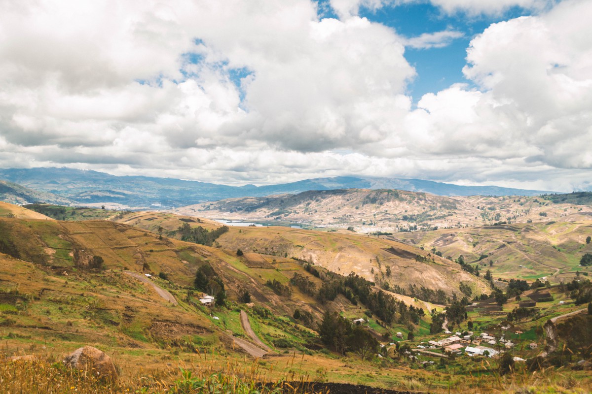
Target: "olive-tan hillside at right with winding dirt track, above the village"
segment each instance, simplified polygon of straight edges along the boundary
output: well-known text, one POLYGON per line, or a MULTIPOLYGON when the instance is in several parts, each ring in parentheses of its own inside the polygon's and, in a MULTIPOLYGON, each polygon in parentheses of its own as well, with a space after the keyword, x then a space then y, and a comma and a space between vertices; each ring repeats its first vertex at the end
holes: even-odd
POLYGON ((433 250, 489 269, 494 278, 533 280, 545 277, 552 283, 570 282, 584 253, 592 252, 592 221, 514 223, 468 229, 437 230, 398 235, 411 245, 433 250))

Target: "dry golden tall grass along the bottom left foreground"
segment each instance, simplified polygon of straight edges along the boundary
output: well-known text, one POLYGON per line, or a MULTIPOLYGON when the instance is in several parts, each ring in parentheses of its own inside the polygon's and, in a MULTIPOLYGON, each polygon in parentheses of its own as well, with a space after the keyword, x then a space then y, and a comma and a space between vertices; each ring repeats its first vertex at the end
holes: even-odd
MULTIPOLYGON (((205 361, 205 360, 204 360, 205 361)), ((294 378, 293 375, 286 376, 294 378)), ((2 394, 279 394, 317 393, 304 377, 288 383, 271 382, 259 363, 229 361, 222 367, 190 365, 165 369, 115 382, 99 379, 92 370, 65 366, 50 354, 34 360, 10 360, 0 354, 0 392, 2 394)))

